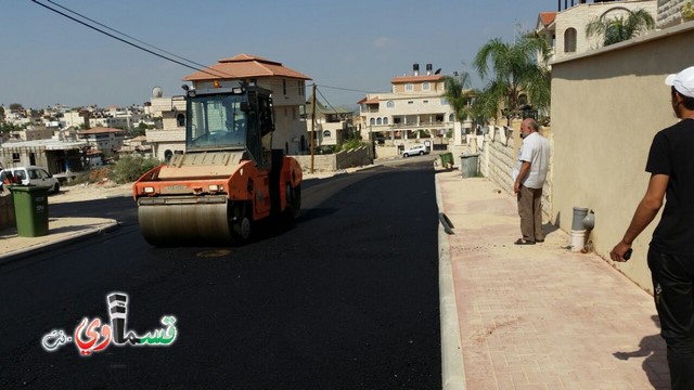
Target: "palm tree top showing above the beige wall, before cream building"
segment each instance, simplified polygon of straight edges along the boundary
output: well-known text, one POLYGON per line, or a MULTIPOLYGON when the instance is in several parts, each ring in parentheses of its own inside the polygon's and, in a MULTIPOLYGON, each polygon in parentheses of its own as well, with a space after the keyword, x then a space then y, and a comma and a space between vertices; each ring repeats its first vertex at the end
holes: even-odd
POLYGON ((611 46, 617 42, 638 37, 655 28, 653 16, 643 9, 631 11, 624 8, 627 17, 608 17, 606 13, 594 18, 586 26, 586 36, 603 37, 603 44, 611 46))

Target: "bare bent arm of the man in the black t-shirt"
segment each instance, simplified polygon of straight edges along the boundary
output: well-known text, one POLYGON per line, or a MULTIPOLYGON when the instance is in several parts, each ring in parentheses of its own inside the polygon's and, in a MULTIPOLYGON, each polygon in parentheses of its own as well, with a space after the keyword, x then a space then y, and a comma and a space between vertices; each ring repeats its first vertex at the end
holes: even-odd
POLYGON ((667 174, 652 174, 648 180, 648 188, 646 194, 637 206, 631 223, 627 227, 624 238, 609 252, 609 258, 614 261, 624 262, 624 256, 631 248, 631 244, 643 232, 644 229, 653 221, 655 216, 663 207, 665 191, 668 187, 670 177, 667 174))

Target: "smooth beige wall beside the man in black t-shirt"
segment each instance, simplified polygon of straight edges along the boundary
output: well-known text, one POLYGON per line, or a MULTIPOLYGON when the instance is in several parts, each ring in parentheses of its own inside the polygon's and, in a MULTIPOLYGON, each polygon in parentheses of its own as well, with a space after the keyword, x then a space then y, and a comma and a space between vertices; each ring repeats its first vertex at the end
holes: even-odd
MULTIPOLYGON (((604 258, 621 239, 648 182, 655 133, 676 122, 665 76, 694 65, 694 26, 680 25, 552 65, 553 218, 570 231, 573 207, 595 212, 590 235, 604 258)), ((645 256, 656 221, 616 265, 652 290, 645 256)))

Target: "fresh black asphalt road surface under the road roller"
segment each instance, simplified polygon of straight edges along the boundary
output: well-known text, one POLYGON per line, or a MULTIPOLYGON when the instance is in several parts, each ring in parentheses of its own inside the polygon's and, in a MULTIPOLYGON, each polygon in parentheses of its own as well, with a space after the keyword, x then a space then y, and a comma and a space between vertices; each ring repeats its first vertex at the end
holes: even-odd
POLYGON ((120 229, 0 266, 0 388, 436 389, 441 387, 437 207, 430 161, 306 181, 303 214, 243 247, 154 248, 131 198, 52 205, 120 229), (53 329, 166 328, 168 346, 48 352, 53 329))

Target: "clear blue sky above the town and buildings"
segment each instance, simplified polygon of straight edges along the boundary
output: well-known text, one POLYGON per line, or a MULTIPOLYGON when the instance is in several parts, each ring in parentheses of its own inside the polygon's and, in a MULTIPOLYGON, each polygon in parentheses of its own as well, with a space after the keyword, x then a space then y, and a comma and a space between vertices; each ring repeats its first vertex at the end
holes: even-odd
MULTIPOLYGON (((39 0, 55 8, 48 0, 39 0)), ((477 50, 531 29, 555 0, 53 0, 131 37, 211 65, 240 53, 313 79, 333 105, 387 92, 412 64, 473 74, 477 50), (349 89, 356 91, 345 91, 349 89)), ((179 94, 193 69, 167 62, 30 0, 0 12, 0 104, 42 108, 142 104, 179 94)), ((319 99, 321 95, 319 95, 319 99)))

